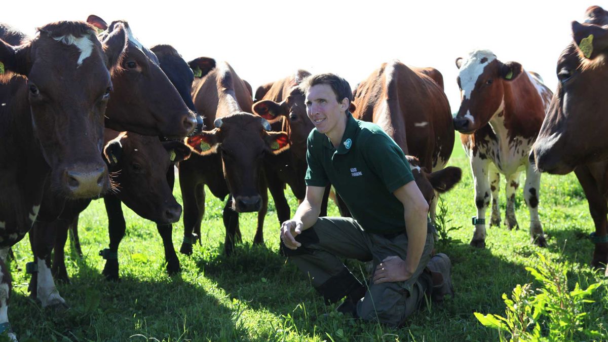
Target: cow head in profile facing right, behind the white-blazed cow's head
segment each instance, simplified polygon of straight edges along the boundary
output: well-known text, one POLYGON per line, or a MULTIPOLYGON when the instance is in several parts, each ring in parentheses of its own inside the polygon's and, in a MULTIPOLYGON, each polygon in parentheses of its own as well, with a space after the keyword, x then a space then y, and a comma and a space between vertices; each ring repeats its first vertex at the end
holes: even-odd
POLYGON ((105 41, 118 27, 128 33, 128 46, 120 69, 112 73, 114 92, 108 102, 106 127, 150 136, 184 137, 196 126, 195 114, 159 66, 159 61, 134 36, 126 21, 106 24, 91 15, 88 23, 100 30, 105 41))

